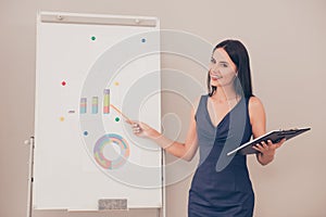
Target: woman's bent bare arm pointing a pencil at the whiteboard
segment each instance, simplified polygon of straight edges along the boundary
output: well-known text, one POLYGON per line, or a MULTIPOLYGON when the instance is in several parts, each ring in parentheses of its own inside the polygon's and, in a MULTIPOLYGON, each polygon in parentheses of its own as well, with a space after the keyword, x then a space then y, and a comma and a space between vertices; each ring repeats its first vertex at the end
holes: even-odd
POLYGON ((187 133, 185 143, 173 141, 166 138, 164 135, 158 132, 145 123, 133 122, 133 131, 136 136, 146 137, 158 143, 161 148, 166 150, 170 154, 180 157, 186 161, 191 161, 197 152, 197 131, 196 131, 196 119, 195 111, 197 111, 198 102, 195 108, 191 110, 190 125, 187 133))

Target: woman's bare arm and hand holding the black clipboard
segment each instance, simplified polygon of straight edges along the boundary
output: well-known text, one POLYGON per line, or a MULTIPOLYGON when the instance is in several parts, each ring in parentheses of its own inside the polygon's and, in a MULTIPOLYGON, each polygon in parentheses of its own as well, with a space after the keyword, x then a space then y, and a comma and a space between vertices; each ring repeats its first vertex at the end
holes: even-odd
MULTIPOLYGON (((252 126, 253 138, 261 137, 266 133, 266 115, 263 103, 259 98, 252 97, 249 100, 249 116, 252 126)), ((271 141, 258 143, 253 146, 259 151, 256 159, 261 165, 269 164, 275 156, 275 151, 285 142, 285 139, 278 143, 272 143, 271 141)))

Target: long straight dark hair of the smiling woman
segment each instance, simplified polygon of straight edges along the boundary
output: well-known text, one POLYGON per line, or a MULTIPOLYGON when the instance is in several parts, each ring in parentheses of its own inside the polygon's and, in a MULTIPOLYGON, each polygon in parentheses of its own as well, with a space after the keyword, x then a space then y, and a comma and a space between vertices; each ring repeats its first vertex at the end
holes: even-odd
MULTIPOLYGON (((235 79, 235 89, 236 92, 244 98, 252 97, 252 86, 251 86, 251 72, 249 63, 249 54, 246 47, 238 40, 224 40, 218 43, 214 49, 223 48, 231 61, 236 64, 238 68, 238 78, 235 79)), ((215 86, 211 86, 211 76, 210 72, 208 75, 208 90, 209 95, 212 97, 216 91, 215 86)))

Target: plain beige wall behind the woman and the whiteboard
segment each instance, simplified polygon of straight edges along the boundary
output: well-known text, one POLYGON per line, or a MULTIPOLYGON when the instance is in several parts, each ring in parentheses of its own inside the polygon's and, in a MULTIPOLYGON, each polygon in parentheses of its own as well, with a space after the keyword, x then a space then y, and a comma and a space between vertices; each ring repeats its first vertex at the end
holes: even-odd
MULTIPOLYGON (((161 28, 181 29, 212 43, 239 38, 248 47, 254 92, 265 104, 267 129, 311 126, 312 131, 289 141, 276 161, 260 166, 249 157, 256 217, 326 216, 325 50, 326 2, 187 1, 187 0, 0 0, 1 122, 0 216, 25 216, 28 148, 34 133, 36 12, 65 11, 149 15, 161 28)), ((183 69, 204 84, 202 68, 187 61, 163 58, 163 67, 183 69), (185 64, 183 64, 185 63, 185 64)), ((162 80, 164 82, 164 79, 162 80)), ((163 114, 174 97, 163 95, 163 114)), ((176 111, 183 111, 177 107, 176 111)), ((180 112, 185 138, 189 113, 180 112)), ((168 161, 174 161, 168 157, 168 161)), ((167 217, 186 216, 190 178, 166 189, 167 217)), ((35 216, 120 216, 117 214, 36 213, 35 216)), ((125 216, 125 215, 121 215, 125 216)), ((128 216, 156 216, 134 210, 128 216)))

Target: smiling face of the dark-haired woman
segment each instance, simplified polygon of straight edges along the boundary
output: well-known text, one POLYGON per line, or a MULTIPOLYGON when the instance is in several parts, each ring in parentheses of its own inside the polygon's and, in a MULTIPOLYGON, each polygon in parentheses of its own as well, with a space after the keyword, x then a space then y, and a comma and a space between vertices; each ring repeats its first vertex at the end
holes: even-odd
POLYGON ((216 49, 210 64, 211 86, 223 87, 231 85, 236 75, 237 66, 227 52, 223 48, 216 49))

